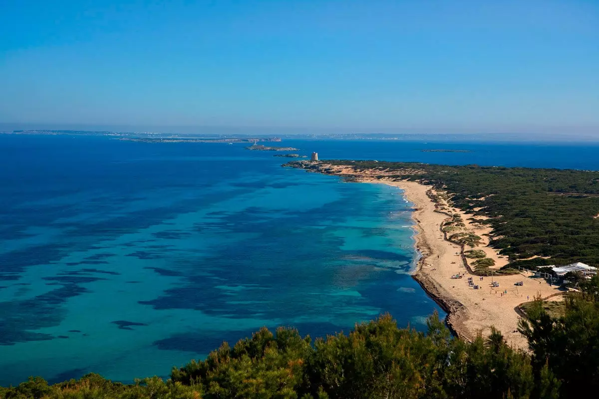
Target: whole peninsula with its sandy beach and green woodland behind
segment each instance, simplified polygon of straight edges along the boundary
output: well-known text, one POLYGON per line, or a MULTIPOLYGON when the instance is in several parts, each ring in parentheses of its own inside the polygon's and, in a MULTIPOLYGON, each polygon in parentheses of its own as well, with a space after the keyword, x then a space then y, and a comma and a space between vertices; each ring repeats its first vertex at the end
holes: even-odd
POLYGON ((493 326, 526 348, 519 306, 537 296, 561 300, 563 291, 524 269, 599 264, 599 172, 343 160, 285 166, 404 190, 422 254, 413 276, 467 340, 493 326))

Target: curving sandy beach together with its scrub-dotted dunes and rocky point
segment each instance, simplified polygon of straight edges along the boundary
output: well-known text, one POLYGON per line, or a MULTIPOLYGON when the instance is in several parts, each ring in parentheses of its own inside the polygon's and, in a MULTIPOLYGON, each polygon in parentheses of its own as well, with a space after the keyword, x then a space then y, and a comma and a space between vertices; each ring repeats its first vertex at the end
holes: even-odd
POLYGON ((495 236, 492 227, 484 223, 485 217, 470 217, 455 206, 446 190, 424 180, 409 181, 407 178, 418 170, 412 168, 402 173, 385 167, 334 165, 327 161, 295 161, 286 166, 403 190, 406 199, 414 204, 416 247, 422 255, 413 278, 447 311, 447 325, 459 337, 473 340, 479 334, 488 335, 495 327, 510 345, 526 349, 527 340, 518 332, 522 314, 519 306, 534 297, 563 298, 559 287, 534 278, 534 273, 506 269, 509 258, 489 246, 495 236), (477 239, 464 245, 460 241, 464 237, 477 239), (480 262, 468 258, 471 254, 480 254, 479 258, 485 258, 492 266, 477 267, 480 262), (468 283, 469 279, 473 284, 468 283))

